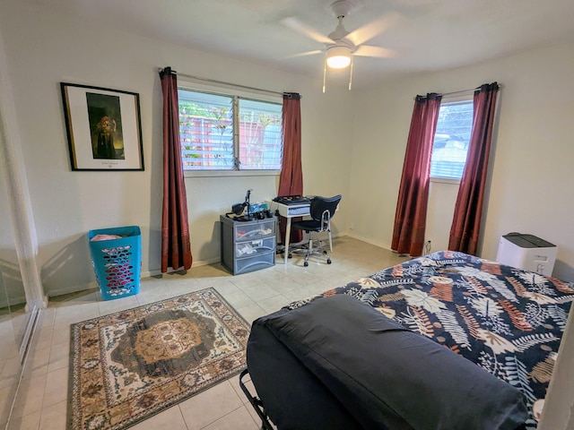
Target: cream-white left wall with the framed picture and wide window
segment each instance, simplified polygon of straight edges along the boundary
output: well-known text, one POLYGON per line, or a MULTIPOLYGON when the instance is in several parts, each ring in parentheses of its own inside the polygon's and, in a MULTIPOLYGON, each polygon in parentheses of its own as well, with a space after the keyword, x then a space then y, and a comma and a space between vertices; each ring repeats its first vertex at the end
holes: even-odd
MULTIPOLYGON (((48 295, 95 286, 86 234, 93 228, 142 228, 143 274, 159 272, 161 251, 161 85, 158 67, 303 96, 304 192, 346 197, 351 158, 347 108, 351 94, 335 86, 248 62, 145 39, 77 21, 42 4, 3 2, 0 29, 9 64, 48 295), (145 171, 73 172, 60 82, 140 94, 145 171)), ((183 78, 180 78, 183 79, 183 78)), ((343 88, 343 87, 342 87, 343 88)), ((196 264, 219 259, 220 214, 241 202, 274 197, 276 176, 186 179, 192 253, 196 264)), ((346 225, 345 199, 334 219, 346 225)), ((4 233, 3 233, 4 235, 4 233)), ((4 240, 4 237, 3 237, 4 240)))

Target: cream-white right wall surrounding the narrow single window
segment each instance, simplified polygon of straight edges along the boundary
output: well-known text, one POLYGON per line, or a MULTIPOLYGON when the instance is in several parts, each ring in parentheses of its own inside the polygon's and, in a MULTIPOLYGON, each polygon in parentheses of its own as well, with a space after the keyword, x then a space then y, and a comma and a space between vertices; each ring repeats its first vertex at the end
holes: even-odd
MULTIPOLYGON (((352 235, 387 247, 391 243, 413 97, 496 81, 502 89, 481 255, 494 259, 500 236, 510 231, 534 234, 558 246, 553 275, 574 280, 573 50, 571 43, 539 48, 449 72, 381 82, 376 89, 355 93, 352 235)), ((454 202, 444 197, 456 199, 457 193, 453 185, 432 187, 431 231, 440 231, 442 219, 443 234, 448 234, 452 211, 447 214, 446 209, 454 202)), ((435 244, 448 244, 448 237, 431 238, 435 244)))

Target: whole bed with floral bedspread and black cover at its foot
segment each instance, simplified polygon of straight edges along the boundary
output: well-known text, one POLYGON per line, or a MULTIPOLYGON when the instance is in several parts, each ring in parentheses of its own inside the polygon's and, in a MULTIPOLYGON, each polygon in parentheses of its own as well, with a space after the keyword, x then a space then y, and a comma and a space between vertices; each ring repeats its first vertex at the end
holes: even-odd
POLYGON ((280 429, 455 428, 444 416, 491 419, 494 409, 500 424, 458 428, 535 429, 573 299, 561 280, 429 254, 256 320, 245 374, 257 395, 248 397, 280 429))

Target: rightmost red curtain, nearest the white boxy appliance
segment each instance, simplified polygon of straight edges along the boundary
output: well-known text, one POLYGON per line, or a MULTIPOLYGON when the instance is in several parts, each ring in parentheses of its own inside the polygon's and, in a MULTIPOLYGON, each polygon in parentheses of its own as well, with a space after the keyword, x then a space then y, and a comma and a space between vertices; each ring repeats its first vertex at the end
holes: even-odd
POLYGON ((472 255, 477 252, 498 91, 498 83, 493 82, 474 92, 473 132, 448 239, 448 249, 452 251, 472 255))

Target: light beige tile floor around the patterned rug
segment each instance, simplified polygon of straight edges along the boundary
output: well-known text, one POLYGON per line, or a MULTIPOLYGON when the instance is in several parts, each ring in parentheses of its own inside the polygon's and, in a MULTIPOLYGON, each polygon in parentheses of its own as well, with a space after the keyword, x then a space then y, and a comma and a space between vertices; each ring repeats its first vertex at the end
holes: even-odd
MULTIPOLYGON (((34 333, 18 398, 8 429, 65 430, 70 348, 70 324, 120 310, 216 288, 249 323, 283 305, 340 287, 406 260, 397 254, 348 236, 333 241, 332 264, 311 261, 303 266, 294 256, 274 267, 232 276, 220 264, 193 267, 186 274, 144 279, 137 295, 102 301, 99 289, 50 299, 34 333)), ((240 390, 239 376, 219 383, 167 409, 134 430, 255 430, 261 422, 240 390)))

